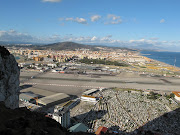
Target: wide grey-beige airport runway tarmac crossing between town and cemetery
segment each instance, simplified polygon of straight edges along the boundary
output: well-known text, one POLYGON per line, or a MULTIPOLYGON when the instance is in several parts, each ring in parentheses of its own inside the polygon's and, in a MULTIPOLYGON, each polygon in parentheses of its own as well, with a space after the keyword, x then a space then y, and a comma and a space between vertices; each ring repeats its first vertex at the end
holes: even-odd
POLYGON ((147 77, 123 77, 109 76, 101 78, 91 78, 88 76, 74 76, 71 74, 46 73, 31 78, 29 75, 21 75, 20 79, 27 81, 24 85, 32 85, 34 88, 52 92, 62 92, 69 95, 80 96, 82 92, 90 88, 99 87, 119 87, 135 89, 154 89, 160 91, 180 91, 180 79, 162 79, 147 77))

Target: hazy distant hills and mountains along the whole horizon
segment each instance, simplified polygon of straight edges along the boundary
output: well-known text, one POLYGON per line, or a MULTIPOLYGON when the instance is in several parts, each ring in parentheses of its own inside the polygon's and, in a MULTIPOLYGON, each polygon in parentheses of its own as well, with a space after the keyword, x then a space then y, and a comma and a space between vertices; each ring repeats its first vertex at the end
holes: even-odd
POLYGON ((148 51, 178 51, 180 52, 180 46, 157 46, 153 44, 138 44, 138 45, 114 45, 114 46, 108 46, 108 45, 84 45, 80 43, 74 43, 74 42, 58 42, 58 43, 52 43, 52 44, 44 44, 44 43, 30 43, 30 42, 6 42, 6 41, 0 41, 0 45, 2 46, 16 46, 16 47, 28 47, 32 49, 38 49, 38 50, 45 50, 45 49, 52 49, 52 50, 75 50, 75 49, 90 49, 93 51, 100 50, 100 48, 106 48, 106 49, 126 49, 126 50, 148 50, 148 51))

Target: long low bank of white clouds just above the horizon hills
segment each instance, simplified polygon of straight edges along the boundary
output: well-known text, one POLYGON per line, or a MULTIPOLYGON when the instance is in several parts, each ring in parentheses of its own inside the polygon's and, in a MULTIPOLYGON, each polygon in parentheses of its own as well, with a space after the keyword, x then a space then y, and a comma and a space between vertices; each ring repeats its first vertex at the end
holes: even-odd
MULTIPOLYGON (((113 39, 112 35, 106 35, 103 37, 93 36, 74 36, 72 34, 66 35, 49 35, 46 37, 32 36, 27 33, 21 33, 15 30, 3 31, 0 30, 0 41, 6 42, 30 42, 30 43, 55 43, 63 41, 72 41, 82 44, 96 44, 96 45, 108 45, 108 46, 119 46, 119 47, 130 47, 130 48, 141 48, 141 49, 161 49, 177 51, 180 49, 180 41, 159 41, 154 39, 131 39, 121 41, 119 39, 113 39), (176 48, 176 49, 175 49, 176 48)), ((158 38, 156 38, 158 39, 158 38)))

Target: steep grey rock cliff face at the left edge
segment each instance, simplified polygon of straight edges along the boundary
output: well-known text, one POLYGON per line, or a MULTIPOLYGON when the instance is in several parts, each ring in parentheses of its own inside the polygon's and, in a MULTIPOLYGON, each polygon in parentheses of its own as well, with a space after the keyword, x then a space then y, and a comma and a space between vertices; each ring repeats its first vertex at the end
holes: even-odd
POLYGON ((0 101, 11 109, 19 107, 19 74, 14 56, 0 46, 0 101))

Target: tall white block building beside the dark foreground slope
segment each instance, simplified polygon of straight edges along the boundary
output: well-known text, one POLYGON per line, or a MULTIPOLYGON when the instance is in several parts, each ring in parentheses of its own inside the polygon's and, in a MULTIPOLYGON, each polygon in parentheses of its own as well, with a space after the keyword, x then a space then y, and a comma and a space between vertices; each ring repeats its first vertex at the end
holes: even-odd
POLYGON ((52 118, 59 122, 62 127, 68 128, 70 126, 70 111, 68 108, 62 108, 55 112, 52 118))

